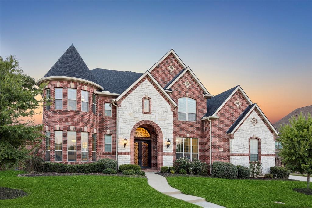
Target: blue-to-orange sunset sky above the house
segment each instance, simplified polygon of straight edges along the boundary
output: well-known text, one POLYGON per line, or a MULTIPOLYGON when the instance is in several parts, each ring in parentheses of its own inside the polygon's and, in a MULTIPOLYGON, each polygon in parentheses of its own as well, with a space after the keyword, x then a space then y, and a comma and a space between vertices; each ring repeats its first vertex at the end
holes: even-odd
POLYGON ((89 69, 132 72, 173 48, 210 94, 240 85, 272 123, 312 105, 312 1, 0 1, 0 55, 36 81, 72 43, 89 69))

